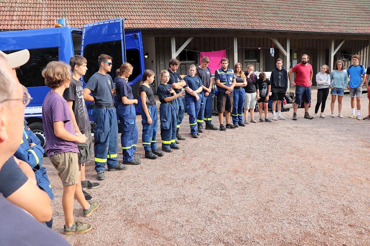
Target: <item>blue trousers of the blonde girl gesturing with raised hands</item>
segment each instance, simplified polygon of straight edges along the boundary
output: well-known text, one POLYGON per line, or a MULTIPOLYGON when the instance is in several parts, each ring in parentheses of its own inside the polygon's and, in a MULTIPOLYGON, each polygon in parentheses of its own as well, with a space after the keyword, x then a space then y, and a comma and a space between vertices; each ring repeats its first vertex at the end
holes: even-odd
POLYGON ((162 148, 169 149, 176 146, 176 108, 174 104, 161 103, 159 106, 161 121, 162 148))

